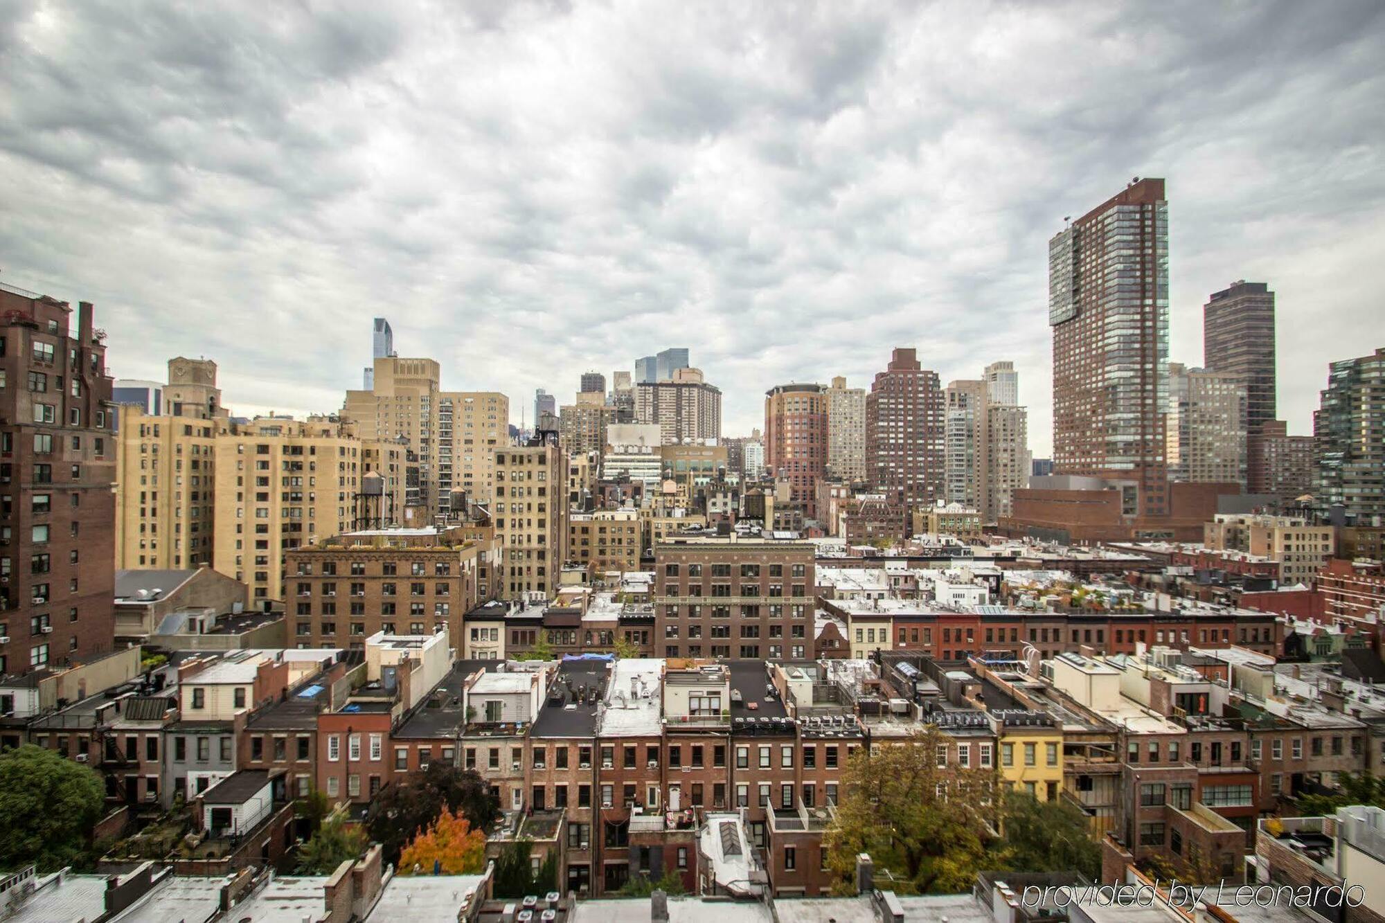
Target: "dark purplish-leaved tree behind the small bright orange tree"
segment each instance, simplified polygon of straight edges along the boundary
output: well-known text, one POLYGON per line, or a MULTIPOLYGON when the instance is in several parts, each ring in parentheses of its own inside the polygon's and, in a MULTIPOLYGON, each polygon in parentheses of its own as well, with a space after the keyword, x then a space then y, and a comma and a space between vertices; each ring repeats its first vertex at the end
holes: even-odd
POLYGON ((375 795, 366 812, 366 829, 370 838, 379 843, 385 862, 397 865, 403 848, 427 830, 443 808, 465 818, 472 830, 489 833, 500 814, 500 798, 475 769, 434 762, 375 795))

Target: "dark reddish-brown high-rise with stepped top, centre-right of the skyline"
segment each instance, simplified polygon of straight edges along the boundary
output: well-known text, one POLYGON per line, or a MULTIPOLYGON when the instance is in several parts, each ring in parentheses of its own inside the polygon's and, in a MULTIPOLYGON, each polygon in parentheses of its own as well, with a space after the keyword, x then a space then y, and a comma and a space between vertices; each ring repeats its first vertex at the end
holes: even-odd
POLYGON ((946 419, 938 373, 914 349, 895 349, 866 398, 866 466, 877 491, 907 506, 932 506, 946 493, 946 419))

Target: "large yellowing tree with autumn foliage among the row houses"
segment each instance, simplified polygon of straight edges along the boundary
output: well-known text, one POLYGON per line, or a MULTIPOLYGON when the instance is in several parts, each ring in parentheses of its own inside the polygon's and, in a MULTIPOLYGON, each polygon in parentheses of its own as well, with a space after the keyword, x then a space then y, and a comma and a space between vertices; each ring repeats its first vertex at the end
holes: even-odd
POLYGON ((868 852, 895 891, 953 893, 989 865, 996 776, 938 765, 947 743, 929 725, 870 754, 861 747, 843 775, 845 795, 824 836, 834 891, 850 894, 856 855, 868 852))

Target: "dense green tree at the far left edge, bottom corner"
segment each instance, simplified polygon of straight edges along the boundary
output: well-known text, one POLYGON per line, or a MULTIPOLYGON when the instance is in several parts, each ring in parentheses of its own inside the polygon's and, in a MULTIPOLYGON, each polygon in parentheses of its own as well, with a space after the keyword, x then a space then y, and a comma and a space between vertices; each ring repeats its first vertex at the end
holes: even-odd
POLYGON ((80 865, 104 807, 93 769, 33 744, 0 754, 0 868, 80 865))

